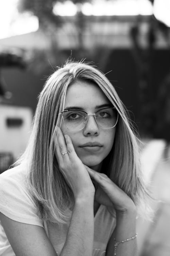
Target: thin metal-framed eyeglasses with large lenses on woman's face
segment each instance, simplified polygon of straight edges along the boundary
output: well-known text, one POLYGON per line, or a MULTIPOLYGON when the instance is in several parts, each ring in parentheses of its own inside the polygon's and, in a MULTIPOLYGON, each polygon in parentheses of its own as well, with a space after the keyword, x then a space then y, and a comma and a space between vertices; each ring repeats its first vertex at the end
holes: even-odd
POLYGON ((104 108, 94 114, 87 114, 82 110, 63 110, 62 115, 66 128, 70 131, 82 130, 88 121, 89 115, 94 115, 96 123, 104 129, 113 128, 118 122, 118 112, 115 107, 104 108))

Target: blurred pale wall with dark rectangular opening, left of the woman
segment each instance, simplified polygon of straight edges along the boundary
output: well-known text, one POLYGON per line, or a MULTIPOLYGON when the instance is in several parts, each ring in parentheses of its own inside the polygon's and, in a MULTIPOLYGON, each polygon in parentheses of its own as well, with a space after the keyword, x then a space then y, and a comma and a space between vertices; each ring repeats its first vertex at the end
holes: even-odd
POLYGON ((31 123, 30 108, 0 105, 0 153, 11 153, 16 160, 26 148, 31 123))

